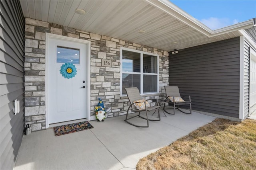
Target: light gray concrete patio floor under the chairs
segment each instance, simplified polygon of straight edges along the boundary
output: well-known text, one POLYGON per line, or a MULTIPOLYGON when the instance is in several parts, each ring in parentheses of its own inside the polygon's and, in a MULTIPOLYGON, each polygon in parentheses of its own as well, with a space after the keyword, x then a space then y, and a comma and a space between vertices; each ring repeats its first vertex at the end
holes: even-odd
MULTIPOLYGON (((161 110, 162 111, 162 110, 161 110)), ((156 115, 156 114, 155 114, 156 115)), ((188 135, 215 117, 192 112, 163 116, 148 128, 134 127, 125 116, 90 121, 88 129, 56 137, 53 129, 23 137, 14 170, 128 170, 140 158, 188 135)), ((144 119, 135 118, 135 122, 144 119)))

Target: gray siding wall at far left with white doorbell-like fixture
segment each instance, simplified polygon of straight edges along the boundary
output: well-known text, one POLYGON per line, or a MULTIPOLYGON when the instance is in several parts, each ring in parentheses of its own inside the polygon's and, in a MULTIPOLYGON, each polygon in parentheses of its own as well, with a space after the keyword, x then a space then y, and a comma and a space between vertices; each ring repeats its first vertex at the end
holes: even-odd
POLYGON ((13 169, 24 129, 24 17, 19 1, 1 0, 0 169, 13 169), (14 100, 20 113, 14 115, 14 100))

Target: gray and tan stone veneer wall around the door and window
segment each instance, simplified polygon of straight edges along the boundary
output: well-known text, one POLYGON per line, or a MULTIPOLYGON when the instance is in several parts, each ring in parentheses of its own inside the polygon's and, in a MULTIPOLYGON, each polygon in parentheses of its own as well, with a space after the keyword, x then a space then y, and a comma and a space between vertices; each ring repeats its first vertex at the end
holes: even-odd
MULTIPOLYGON (((163 98, 168 85, 168 52, 144 45, 79 31, 69 27, 26 18, 25 25, 25 124, 32 131, 46 128, 45 116, 45 33, 53 33, 91 41, 90 110, 102 98, 108 117, 126 114, 127 97, 120 97, 120 47, 146 51, 159 55, 159 94, 146 95, 146 99, 163 98), (112 61, 112 67, 101 66, 102 59, 112 61)), ((96 119, 96 118, 95 118, 96 119)))

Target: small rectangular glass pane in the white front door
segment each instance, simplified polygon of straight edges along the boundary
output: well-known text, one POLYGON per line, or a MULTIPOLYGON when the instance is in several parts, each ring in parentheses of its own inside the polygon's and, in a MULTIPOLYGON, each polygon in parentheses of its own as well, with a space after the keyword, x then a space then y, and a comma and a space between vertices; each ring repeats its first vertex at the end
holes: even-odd
POLYGON ((57 63, 79 64, 79 49, 57 46, 57 63))

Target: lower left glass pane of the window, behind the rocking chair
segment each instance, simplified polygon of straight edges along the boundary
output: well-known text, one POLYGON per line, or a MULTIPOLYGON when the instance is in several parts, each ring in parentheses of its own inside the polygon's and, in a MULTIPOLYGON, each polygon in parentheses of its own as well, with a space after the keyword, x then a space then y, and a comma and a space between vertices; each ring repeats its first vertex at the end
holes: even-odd
POLYGON ((140 75, 122 74, 122 94, 126 94, 124 90, 126 87, 137 87, 140 91, 140 75))

